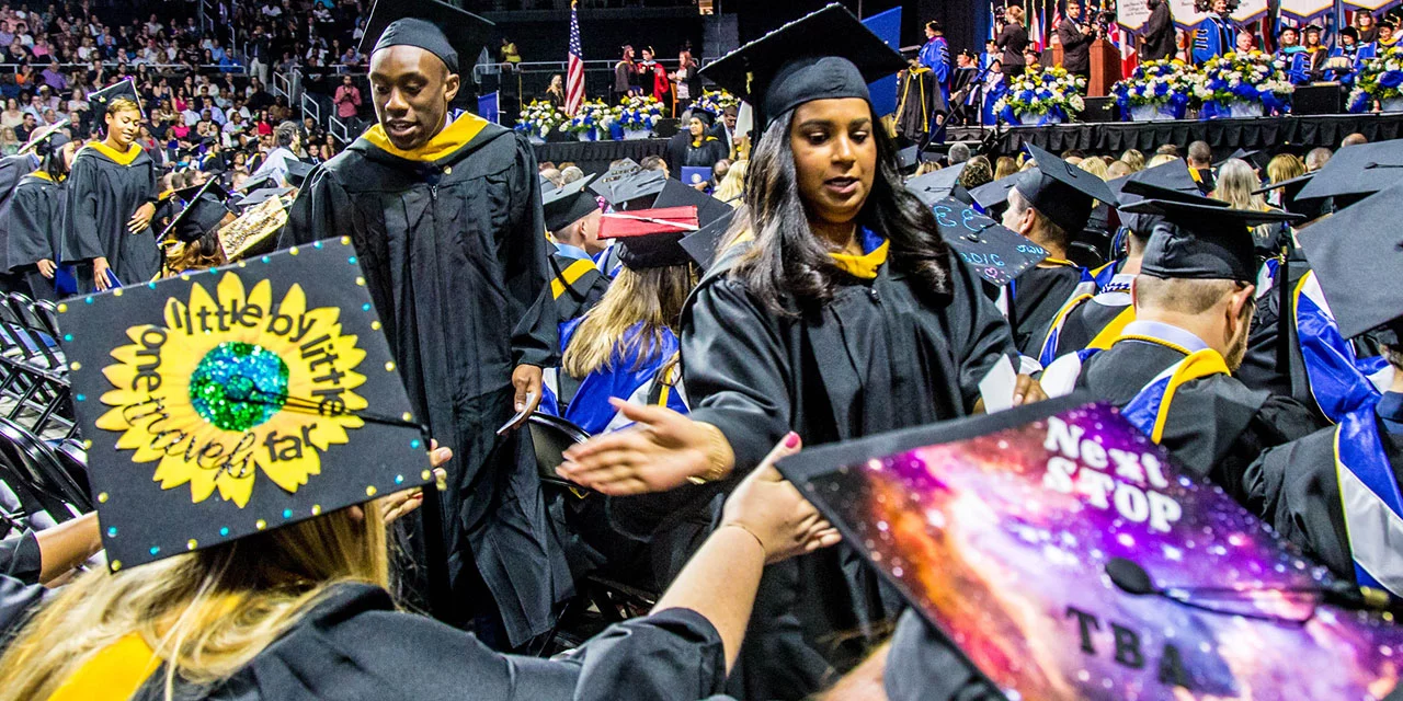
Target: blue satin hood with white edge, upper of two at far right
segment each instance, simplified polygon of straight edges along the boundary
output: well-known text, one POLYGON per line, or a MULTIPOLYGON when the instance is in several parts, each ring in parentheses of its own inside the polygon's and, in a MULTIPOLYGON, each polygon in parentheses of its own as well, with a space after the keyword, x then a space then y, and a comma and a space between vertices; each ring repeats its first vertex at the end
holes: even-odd
POLYGON ((1354 355, 1354 346, 1340 334, 1315 272, 1308 272, 1296 283, 1292 307, 1310 395, 1320 412, 1338 423, 1345 414, 1372 408, 1382 393, 1369 376, 1383 370, 1388 360, 1354 355))

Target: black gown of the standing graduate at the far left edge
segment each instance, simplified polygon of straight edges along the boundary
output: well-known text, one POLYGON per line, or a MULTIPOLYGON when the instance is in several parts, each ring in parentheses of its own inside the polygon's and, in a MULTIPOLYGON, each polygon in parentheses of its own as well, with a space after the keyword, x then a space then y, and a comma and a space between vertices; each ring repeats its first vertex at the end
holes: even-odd
POLYGON ((6 250, 10 271, 24 275, 34 299, 56 299, 53 280, 39 275, 39 261, 59 261, 63 245, 63 184, 39 175, 25 175, 10 203, 10 236, 6 250))

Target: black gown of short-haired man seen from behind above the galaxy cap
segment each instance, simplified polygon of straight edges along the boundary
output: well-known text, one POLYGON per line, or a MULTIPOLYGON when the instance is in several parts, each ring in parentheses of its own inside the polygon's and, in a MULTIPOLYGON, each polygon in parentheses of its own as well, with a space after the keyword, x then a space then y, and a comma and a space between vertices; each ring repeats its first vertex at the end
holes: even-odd
MULTIPOLYGON (((1184 353, 1169 346, 1121 341, 1086 360, 1076 388, 1125 407, 1155 376, 1183 359, 1184 353)), ((1263 450, 1317 428, 1299 402, 1215 374, 1176 390, 1160 444, 1190 472, 1243 501, 1242 475, 1263 450)))

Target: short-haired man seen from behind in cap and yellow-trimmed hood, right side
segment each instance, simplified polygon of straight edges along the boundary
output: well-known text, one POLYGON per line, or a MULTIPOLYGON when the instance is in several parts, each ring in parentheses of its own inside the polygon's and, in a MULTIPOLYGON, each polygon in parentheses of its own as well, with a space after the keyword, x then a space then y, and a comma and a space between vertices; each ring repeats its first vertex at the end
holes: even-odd
POLYGON ((1247 465, 1316 426, 1302 404, 1232 376, 1256 310, 1260 265, 1249 227, 1292 215, 1229 209, 1148 182, 1125 192, 1146 199, 1124 212, 1156 217, 1131 283, 1135 321, 1106 350, 1058 359, 1042 384, 1052 395, 1082 390, 1115 404, 1187 470, 1242 501, 1247 465))

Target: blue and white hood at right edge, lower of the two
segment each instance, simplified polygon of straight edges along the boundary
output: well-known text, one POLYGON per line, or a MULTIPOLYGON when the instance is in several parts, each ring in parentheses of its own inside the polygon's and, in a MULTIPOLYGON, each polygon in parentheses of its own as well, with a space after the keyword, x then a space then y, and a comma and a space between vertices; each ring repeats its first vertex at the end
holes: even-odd
POLYGON ((1341 416, 1334 467, 1355 580, 1403 596, 1403 494, 1372 408, 1341 416))

